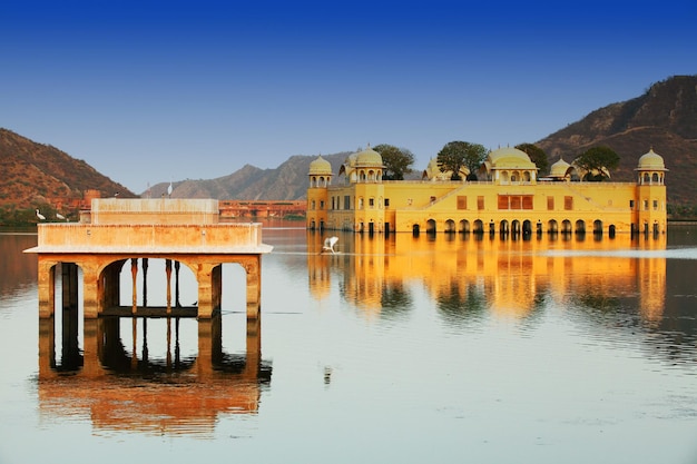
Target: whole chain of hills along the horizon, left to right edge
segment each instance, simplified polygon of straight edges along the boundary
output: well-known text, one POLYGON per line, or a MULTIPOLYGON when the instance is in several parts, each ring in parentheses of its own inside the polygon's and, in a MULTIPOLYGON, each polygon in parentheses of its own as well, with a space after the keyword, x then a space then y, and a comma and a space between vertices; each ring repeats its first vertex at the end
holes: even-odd
MULTIPOLYGON (((669 169, 668 203, 689 206, 697 213, 697 76, 674 76, 656 82, 644 95, 597 109, 533 144, 547 152, 550 165, 560 157, 571 162, 593 146, 608 146, 620 156, 619 167, 611 171, 611 180, 616 181, 634 180, 638 158, 652 148, 669 169)), ((348 155, 345 151, 323 158, 338 172, 348 155)), ((310 164, 315 158, 296 155, 275 169, 246 165, 215 179, 176 181, 173 197, 303 199, 310 164)), ((160 182, 140 195, 159 197, 168 186, 160 182)), ((40 205, 50 208, 58 203, 75 204, 89 189, 99 190, 101 196, 117 191, 124 197, 136 196, 86 161, 0 128, 0 216, 12 209, 32 211, 40 205)))

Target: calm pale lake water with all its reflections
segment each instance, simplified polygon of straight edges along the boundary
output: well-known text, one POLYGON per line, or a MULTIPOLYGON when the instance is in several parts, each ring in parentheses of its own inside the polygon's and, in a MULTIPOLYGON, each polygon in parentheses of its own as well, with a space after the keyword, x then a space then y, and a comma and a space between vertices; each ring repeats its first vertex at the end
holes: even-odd
POLYGON ((697 463, 697 228, 337 235, 265 226, 249 326, 236 265, 214 322, 39 324, 0 235, 0 463, 697 463))

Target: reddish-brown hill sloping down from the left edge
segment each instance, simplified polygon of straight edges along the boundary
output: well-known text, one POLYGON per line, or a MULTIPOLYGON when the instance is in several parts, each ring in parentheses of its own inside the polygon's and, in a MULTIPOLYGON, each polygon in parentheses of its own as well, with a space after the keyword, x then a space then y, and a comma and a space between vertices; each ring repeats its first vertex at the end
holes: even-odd
POLYGON ((121 196, 135 197, 132 191, 84 160, 0 128, 0 210, 3 216, 57 203, 70 204, 89 189, 99 190, 101 196, 110 197, 118 191, 121 196))

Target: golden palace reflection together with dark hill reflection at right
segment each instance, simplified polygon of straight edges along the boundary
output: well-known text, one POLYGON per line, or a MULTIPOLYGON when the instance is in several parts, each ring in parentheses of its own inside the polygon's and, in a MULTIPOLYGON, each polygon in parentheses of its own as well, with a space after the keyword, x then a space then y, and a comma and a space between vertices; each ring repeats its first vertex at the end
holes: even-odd
POLYGON ((423 288, 449 326, 487 318, 529 324, 543 312, 560 310, 601 328, 610 324, 628 337, 640 334, 664 358, 697 361, 696 317, 688 309, 697 249, 679 249, 678 257, 690 259, 669 265, 676 255, 665 235, 439 234, 426 239, 345 233, 337 255, 320 253, 323 238, 307 234, 312 295, 325 298, 336 285, 369 319, 413 312, 413 293, 423 288))

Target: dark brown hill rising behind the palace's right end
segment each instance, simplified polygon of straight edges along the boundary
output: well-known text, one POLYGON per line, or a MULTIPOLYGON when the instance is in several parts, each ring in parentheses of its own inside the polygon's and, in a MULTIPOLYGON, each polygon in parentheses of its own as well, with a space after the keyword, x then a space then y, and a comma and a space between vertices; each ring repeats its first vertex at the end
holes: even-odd
POLYGON ((536 142, 550 164, 571 162, 590 147, 605 145, 620 156, 612 180, 631 181, 637 160, 651 147, 664 157, 668 203, 697 204, 697 76, 675 76, 642 96, 608 105, 536 142))

